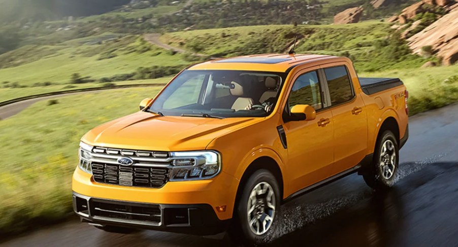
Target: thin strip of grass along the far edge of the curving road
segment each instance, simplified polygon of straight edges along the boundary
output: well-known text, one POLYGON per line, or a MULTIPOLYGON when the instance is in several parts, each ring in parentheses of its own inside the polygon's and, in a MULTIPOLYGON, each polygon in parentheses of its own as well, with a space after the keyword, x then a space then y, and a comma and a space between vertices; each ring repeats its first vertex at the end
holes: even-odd
MULTIPOLYGON (((128 84, 165 84, 170 81, 172 77, 163 77, 149 80, 132 80, 132 81, 118 81, 113 82, 115 85, 128 85, 128 84)), ((83 84, 68 84, 68 85, 51 85, 51 86, 38 86, 38 87, 23 87, 23 88, 0 88, 0 102, 8 101, 20 97, 45 94, 48 92, 73 90, 90 87, 101 87, 105 83, 83 83, 83 84)))

